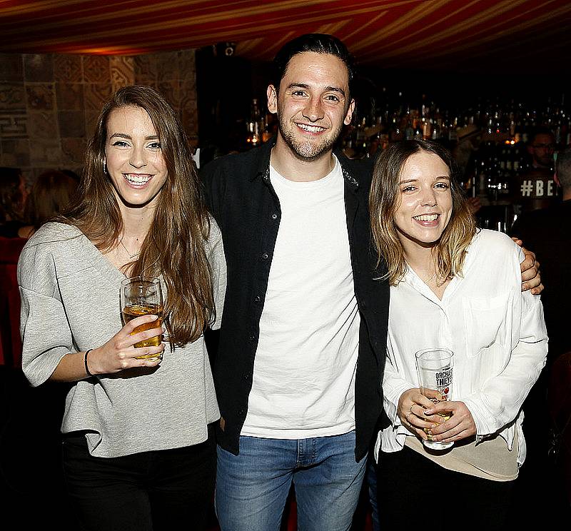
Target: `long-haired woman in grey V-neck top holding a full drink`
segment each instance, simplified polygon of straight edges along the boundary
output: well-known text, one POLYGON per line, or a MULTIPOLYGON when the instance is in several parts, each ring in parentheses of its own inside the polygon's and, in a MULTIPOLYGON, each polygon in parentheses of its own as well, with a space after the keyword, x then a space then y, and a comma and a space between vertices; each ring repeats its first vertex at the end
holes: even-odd
POLYGON ((76 201, 19 261, 24 373, 73 384, 61 431, 82 529, 205 527, 219 413, 203 330, 220 323, 225 267, 173 109, 148 87, 117 91, 76 201), (166 328, 122 325, 119 286, 135 275, 161 279, 166 328), (133 346, 165 332, 164 358, 164 343, 133 346))

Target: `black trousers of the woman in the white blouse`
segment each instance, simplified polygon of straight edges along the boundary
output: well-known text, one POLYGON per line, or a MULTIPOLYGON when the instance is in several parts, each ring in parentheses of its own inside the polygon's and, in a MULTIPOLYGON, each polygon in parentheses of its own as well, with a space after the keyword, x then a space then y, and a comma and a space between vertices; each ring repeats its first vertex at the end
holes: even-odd
POLYGON ((403 524, 427 529, 510 528, 513 481, 453 472, 408 447, 381 452, 377 470, 384 529, 403 524))

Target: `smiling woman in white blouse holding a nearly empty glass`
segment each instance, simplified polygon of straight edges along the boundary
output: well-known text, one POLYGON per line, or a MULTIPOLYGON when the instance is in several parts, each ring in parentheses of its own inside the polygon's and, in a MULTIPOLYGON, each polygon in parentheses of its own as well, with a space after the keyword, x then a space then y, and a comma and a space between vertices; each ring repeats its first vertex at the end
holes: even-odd
POLYGON ((490 530, 509 514, 525 459, 520 408, 547 335, 540 299, 520 291, 520 248, 475 227, 453 168, 438 143, 403 141, 373 174, 373 241, 391 285, 378 496, 385 524, 402 524, 421 502, 423 519, 470 517, 490 530), (431 347, 454 353, 453 395, 436 405, 420 394, 415 368, 415 353, 431 347), (449 420, 438 415, 446 412, 449 420), (454 445, 427 450, 428 438, 454 445))

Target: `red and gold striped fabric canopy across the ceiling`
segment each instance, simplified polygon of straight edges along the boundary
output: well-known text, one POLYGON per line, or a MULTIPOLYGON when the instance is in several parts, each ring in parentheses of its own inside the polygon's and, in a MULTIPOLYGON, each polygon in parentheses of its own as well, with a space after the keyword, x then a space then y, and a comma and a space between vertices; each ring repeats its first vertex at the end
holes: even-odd
POLYGON ((14 53, 135 55, 231 41, 238 56, 266 61, 319 32, 382 68, 547 73, 567 63, 570 29, 568 0, 0 0, 0 51, 14 53))

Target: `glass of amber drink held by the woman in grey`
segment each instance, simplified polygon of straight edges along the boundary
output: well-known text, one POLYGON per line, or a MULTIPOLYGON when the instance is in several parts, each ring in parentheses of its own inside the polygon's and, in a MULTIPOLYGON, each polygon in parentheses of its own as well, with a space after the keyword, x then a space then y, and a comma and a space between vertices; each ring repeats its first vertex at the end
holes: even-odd
MULTIPOLYGON (((163 323, 163 292, 161 281, 158 278, 136 276, 121 281, 121 308, 123 322, 127 324, 131 319, 141 315, 157 315, 151 323, 136 327, 131 335, 151 328, 160 328, 163 323)), ((133 345, 135 348, 158 347, 161 344, 161 335, 156 335, 133 345)), ((156 354, 137 356, 137 359, 156 358, 156 354)))

